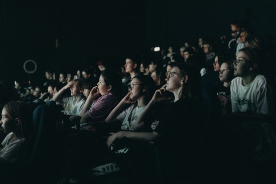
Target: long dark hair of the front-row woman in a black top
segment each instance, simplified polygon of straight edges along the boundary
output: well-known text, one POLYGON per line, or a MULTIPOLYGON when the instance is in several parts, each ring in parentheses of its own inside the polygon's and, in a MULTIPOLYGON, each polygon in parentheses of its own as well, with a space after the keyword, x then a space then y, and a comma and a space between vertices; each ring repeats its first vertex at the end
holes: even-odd
POLYGON ((187 82, 183 85, 179 98, 199 98, 201 76, 199 71, 191 65, 177 64, 182 78, 188 76, 187 82))

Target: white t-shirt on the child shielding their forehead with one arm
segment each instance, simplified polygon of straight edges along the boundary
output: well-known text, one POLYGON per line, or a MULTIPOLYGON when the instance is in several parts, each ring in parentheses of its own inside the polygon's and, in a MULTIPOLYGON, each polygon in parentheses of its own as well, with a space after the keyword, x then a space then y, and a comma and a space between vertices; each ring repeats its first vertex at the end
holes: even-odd
POLYGON ((82 98, 79 102, 77 102, 77 97, 75 96, 63 97, 63 103, 65 104, 64 114, 80 116, 85 99, 82 98))

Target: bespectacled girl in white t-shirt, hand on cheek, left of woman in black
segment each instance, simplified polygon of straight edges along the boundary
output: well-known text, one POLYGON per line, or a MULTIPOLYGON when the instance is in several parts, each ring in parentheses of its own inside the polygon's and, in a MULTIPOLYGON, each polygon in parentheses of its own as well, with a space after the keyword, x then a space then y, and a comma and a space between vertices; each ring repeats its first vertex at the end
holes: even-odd
POLYGON ((155 92, 155 82, 147 75, 139 75, 131 80, 129 92, 119 102, 119 104, 111 111, 105 119, 107 123, 121 123, 122 130, 141 130, 144 124, 137 125, 135 121, 137 117, 143 112, 146 105, 151 100, 155 92), (119 114, 125 104, 131 104, 119 114))

